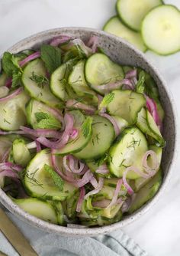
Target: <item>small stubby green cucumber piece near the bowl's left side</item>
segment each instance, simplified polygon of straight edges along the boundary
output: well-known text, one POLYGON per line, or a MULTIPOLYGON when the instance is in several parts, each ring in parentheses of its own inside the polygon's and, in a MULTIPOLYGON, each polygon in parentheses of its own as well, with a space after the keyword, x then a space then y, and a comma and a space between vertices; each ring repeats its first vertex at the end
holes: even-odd
POLYGON ((31 161, 31 153, 27 149, 24 139, 15 139, 12 144, 12 154, 14 162, 23 167, 31 161))

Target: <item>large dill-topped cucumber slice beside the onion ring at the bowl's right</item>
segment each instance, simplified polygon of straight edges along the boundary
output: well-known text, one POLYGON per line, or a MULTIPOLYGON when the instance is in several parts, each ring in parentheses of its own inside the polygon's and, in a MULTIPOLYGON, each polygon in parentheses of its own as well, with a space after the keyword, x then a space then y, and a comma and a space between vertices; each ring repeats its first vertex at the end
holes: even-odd
MULTIPOLYGON (((136 127, 126 128, 109 150, 108 167, 110 172, 119 178, 123 176, 128 166, 136 166, 143 172, 142 159, 147 150, 147 141, 143 133, 136 127)), ((139 177, 133 171, 127 172, 127 179, 139 177)))

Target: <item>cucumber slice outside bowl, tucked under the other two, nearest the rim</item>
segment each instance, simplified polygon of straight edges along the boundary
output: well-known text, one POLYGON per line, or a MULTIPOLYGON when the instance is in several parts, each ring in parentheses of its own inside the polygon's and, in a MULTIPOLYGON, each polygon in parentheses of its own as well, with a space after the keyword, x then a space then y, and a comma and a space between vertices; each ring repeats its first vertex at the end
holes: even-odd
POLYGON ((147 49, 146 45, 143 43, 141 34, 124 26, 117 16, 110 18, 104 25, 103 30, 111 34, 115 34, 120 38, 124 38, 124 40, 128 41, 130 44, 133 44, 140 51, 145 52, 147 49))

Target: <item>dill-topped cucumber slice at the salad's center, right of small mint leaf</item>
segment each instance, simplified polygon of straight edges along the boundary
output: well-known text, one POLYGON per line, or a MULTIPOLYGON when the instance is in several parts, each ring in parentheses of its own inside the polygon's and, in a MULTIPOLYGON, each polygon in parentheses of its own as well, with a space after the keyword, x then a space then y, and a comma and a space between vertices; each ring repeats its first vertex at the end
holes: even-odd
POLYGON ((92 137, 84 149, 74 154, 78 159, 89 162, 103 156, 115 138, 114 127, 107 118, 100 116, 92 116, 92 118, 92 137))

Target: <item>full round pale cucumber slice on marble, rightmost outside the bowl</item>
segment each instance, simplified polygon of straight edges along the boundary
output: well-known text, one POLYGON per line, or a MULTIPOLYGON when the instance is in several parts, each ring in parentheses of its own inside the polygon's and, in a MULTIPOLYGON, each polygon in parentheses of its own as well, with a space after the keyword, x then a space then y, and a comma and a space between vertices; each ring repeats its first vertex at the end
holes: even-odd
POLYGON ((180 50, 180 12, 175 6, 153 8, 141 29, 146 46, 156 53, 168 55, 180 50))

